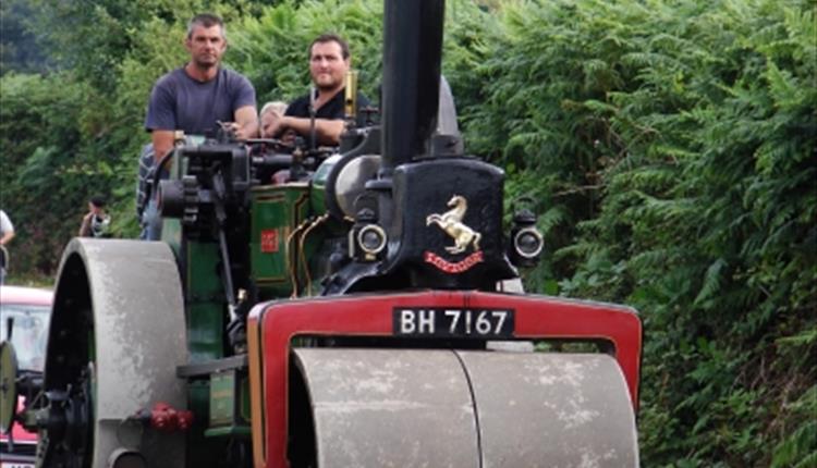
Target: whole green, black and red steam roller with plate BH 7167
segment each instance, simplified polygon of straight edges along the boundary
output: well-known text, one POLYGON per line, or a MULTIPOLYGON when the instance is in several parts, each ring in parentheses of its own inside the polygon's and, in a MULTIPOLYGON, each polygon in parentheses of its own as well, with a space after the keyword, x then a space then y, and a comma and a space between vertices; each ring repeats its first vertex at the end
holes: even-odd
POLYGON ((443 23, 386 1, 379 121, 350 74, 338 148, 178 135, 160 242, 69 243, 13 416, 38 467, 638 466, 641 320, 522 290, 539 202, 465 153, 443 23))

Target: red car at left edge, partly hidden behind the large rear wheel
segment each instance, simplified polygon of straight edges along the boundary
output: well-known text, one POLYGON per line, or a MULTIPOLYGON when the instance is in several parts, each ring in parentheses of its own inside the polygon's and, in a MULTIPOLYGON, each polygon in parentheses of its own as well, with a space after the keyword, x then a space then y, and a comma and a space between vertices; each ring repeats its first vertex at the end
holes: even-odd
MULTIPOLYGON (((22 409, 27 394, 34 395, 33 391, 28 392, 34 390, 32 385, 41 384, 51 300, 50 291, 0 286, 0 337, 9 336, 9 324, 12 323, 11 342, 15 350, 20 395, 17 409, 22 409)), ((7 385, 1 386, 7 391, 7 385)), ((0 408, 0 419, 8 418, 7 409, 0 408)), ((11 438, 9 435, 0 432, 0 467, 34 468, 36 433, 26 431, 15 421, 11 427, 11 438)))

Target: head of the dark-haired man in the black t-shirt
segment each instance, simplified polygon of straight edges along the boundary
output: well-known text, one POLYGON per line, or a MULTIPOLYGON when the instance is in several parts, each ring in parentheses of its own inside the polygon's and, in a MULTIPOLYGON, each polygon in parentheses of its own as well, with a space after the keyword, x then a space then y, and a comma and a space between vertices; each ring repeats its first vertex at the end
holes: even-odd
POLYGON ((349 45, 340 36, 322 34, 309 45, 309 74, 322 91, 343 87, 350 67, 349 45))

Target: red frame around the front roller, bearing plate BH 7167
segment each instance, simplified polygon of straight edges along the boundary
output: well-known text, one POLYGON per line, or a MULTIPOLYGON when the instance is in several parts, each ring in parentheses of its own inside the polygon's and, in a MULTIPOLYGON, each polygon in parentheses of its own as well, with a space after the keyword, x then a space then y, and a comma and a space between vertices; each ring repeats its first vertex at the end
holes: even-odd
POLYGON ((271 303, 257 306, 249 317, 251 332, 257 332, 258 346, 255 350, 259 353, 258 356, 251 356, 251 372, 253 361, 260 362, 256 374, 263 385, 261 401, 254 401, 253 405, 264 407, 263 422, 258 421, 260 418, 253 418, 255 466, 288 466, 286 382, 292 338, 298 335, 393 336, 392 310, 395 307, 513 309, 515 338, 608 341, 614 346, 614 357, 630 389, 633 407, 637 408, 642 324, 635 310, 627 307, 462 291, 271 303), (263 434, 263 439, 257 434, 263 434))

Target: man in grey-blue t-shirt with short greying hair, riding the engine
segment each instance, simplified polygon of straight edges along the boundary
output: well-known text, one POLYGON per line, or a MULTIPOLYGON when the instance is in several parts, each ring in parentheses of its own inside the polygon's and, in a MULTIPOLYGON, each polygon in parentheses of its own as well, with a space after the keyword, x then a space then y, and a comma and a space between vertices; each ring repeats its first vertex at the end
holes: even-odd
MULTIPOLYGON (((243 75, 220 66, 227 50, 221 19, 196 15, 187 25, 184 45, 190 62, 159 78, 150 94, 145 128, 150 132, 155 163, 173 148, 173 132, 178 130, 204 135, 216 131, 218 122, 229 122, 239 139, 258 133, 253 85, 243 75)), ((155 205, 155 200, 148 201, 143 238, 159 238, 160 220, 155 205)))

